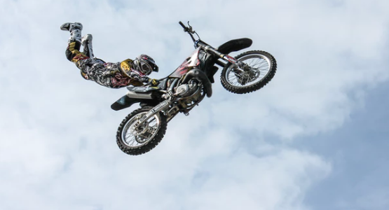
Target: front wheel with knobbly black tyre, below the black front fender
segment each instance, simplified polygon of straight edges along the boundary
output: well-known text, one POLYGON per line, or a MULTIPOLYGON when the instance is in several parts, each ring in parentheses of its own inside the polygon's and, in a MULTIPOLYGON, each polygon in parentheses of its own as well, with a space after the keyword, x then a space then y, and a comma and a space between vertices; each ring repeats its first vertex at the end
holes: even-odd
POLYGON ((277 62, 268 52, 252 50, 235 57, 244 66, 227 64, 221 71, 221 85, 229 92, 245 94, 264 87, 275 75, 277 62))

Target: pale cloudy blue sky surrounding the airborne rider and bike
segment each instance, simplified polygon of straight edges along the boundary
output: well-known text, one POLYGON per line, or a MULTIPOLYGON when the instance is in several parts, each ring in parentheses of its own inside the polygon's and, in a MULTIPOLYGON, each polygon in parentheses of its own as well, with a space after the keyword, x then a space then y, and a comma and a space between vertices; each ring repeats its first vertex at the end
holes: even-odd
POLYGON ((384 0, 0 0, 0 209, 389 209, 388 25, 384 0), (252 38, 277 73, 240 95, 219 69, 211 98, 126 155, 137 106, 110 109, 125 89, 81 78, 60 25, 163 78, 194 50, 179 21, 214 47, 252 38))

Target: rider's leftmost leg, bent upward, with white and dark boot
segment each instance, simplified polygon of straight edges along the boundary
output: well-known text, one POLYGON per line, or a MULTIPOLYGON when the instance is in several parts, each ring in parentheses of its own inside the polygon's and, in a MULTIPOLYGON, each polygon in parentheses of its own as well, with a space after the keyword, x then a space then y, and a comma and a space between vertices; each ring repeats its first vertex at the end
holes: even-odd
POLYGON ((63 31, 69 31, 70 32, 70 38, 67 42, 67 49, 66 49, 66 57, 69 59, 69 61, 74 62, 78 66, 78 62, 81 59, 88 59, 89 57, 80 52, 81 48, 81 30, 83 29, 83 25, 79 22, 74 23, 64 23, 61 26, 61 29, 63 31))

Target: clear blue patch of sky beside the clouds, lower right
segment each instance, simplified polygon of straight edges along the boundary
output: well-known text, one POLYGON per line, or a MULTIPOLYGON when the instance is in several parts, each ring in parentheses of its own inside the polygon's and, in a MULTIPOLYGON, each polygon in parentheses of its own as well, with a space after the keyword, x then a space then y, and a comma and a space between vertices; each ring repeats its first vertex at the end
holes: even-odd
POLYGON ((364 104, 343 127, 320 135, 301 148, 330 157, 332 174, 313 187, 306 198, 315 209, 387 209, 389 169, 388 83, 369 91, 364 104))

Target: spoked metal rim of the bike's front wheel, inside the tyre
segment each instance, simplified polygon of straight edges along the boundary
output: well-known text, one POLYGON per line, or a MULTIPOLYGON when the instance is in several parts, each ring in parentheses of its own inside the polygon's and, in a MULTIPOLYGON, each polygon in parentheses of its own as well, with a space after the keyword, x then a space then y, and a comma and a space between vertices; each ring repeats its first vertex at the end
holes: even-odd
POLYGON ((248 87, 264 80, 271 70, 271 61, 264 55, 245 55, 239 58, 249 69, 244 72, 236 71, 236 66, 228 66, 224 78, 235 87, 248 87))

